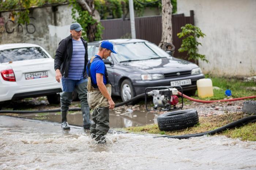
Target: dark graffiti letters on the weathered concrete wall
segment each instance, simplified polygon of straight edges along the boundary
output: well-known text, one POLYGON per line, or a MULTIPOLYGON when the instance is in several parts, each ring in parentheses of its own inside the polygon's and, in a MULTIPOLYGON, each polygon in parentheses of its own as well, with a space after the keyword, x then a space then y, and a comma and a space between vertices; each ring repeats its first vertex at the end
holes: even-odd
MULTIPOLYGON (((29 17, 30 21, 35 20, 34 17, 29 17)), ((15 31, 23 32, 23 27, 26 29, 27 33, 34 33, 35 32, 35 25, 31 23, 26 23, 25 25, 18 24, 15 26, 15 22, 13 20, 7 20, 4 23, 4 17, 0 17, 0 33, 6 31, 7 33, 14 33, 15 31)))

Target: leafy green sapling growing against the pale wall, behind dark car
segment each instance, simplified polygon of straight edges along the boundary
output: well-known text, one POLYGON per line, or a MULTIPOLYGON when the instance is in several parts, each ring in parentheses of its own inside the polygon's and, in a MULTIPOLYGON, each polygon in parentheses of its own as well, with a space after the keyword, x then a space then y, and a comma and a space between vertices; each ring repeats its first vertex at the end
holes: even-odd
POLYGON ((198 46, 202 44, 199 43, 196 38, 206 36, 200 28, 192 25, 186 24, 184 27, 181 27, 181 32, 177 34, 179 38, 184 37, 182 40, 181 48, 178 49, 179 52, 188 52, 188 59, 194 60, 203 60, 208 63, 208 60, 205 58, 205 55, 198 54, 198 46))

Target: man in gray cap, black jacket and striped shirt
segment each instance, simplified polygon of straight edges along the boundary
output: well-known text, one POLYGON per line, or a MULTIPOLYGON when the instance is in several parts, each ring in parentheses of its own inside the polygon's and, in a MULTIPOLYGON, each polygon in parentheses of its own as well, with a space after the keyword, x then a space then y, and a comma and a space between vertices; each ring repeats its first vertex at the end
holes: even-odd
POLYGON ((72 101, 73 91, 78 92, 83 115, 83 128, 90 129, 90 108, 87 102, 87 72, 88 62, 87 42, 81 37, 82 27, 79 23, 70 25, 68 37, 60 41, 57 48, 54 69, 57 82, 62 82, 63 93, 61 94, 61 127, 70 129, 67 122, 68 107, 72 101))

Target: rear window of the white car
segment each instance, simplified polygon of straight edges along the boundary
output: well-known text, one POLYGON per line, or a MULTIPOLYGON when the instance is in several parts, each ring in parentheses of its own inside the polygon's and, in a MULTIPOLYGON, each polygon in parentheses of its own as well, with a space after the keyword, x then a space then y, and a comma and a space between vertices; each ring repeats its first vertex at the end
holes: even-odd
POLYGON ((0 63, 49 58, 39 47, 0 50, 0 63))

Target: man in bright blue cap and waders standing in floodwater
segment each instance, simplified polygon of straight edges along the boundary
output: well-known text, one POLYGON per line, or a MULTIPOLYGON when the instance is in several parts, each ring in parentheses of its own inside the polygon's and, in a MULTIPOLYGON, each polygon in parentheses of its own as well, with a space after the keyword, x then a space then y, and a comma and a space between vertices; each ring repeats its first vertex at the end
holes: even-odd
POLYGON ((111 98, 111 83, 108 72, 102 59, 107 59, 113 50, 110 41, 102 41, 98 53, 87 64, 88 73, 88 103, 93 110, 90 133, 97 143, 105 143, 109 130, 109 109, 113 109, 115 103, 111 98))

